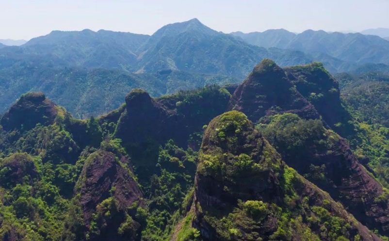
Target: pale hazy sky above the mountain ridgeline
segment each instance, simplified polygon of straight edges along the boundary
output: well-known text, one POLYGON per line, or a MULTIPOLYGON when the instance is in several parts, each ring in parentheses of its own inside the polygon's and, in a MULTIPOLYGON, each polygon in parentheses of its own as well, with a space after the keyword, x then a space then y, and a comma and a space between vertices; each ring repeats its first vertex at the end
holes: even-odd
POLYGON ((152 34, 197 17, 217 31, 389 28, 389 0, 0 0, 0 39, 52 30, 152 34))

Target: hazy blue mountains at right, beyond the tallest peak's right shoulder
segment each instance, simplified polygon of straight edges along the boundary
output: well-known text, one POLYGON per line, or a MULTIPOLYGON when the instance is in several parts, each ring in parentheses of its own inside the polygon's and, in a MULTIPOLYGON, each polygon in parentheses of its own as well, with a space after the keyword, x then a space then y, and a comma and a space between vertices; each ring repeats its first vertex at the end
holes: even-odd
POLYGON ((373 35, 322 30, 307 30, 299 34, 286 30, 232 34, 259 47, 303 51, 315 61, 324 62, 330 70, 349 70, 353 64, 389 64, 389 42, 373 35))

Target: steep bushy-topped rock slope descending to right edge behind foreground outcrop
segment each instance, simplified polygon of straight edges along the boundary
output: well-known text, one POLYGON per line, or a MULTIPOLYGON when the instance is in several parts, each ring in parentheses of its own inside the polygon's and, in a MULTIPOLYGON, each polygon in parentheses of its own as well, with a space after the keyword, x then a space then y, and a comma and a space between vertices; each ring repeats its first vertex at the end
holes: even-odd
POLYGON ((358 221, 389 234, 388 191, 367 172, 346 140, 320 120, 294 114, 270 116, 259 125, 288 165, 328 192, 358 221))

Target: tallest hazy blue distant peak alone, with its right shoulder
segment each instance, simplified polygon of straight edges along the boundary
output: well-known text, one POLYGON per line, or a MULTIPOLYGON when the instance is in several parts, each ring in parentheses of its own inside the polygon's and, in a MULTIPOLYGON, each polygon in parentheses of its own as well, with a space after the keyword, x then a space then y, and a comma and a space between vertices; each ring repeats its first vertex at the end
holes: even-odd
POLYGON ((273 58, 281 65, 311 61, 298 51, 248 45, 208 28, 197 19, 162 27, 141 49, 139 72, 176 69, 243 78, 263 58, 273 58))

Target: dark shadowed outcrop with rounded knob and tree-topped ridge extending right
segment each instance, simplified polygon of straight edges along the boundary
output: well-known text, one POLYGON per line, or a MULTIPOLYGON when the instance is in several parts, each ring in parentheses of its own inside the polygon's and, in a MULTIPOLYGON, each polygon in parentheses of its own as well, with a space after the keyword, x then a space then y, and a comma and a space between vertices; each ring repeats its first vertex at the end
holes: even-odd
POLYGON ((136 166, 140 182, 155 173, 159 146, 174 140, 180 147, 187 147, 191 134, 227 108, 230 94, 220 87, 207 87, 192 92, 151 98, 145 91, 132 90, 126 96, 115 137, 136 166))

